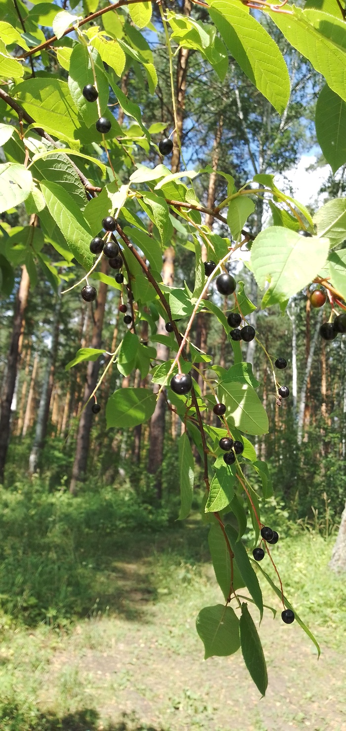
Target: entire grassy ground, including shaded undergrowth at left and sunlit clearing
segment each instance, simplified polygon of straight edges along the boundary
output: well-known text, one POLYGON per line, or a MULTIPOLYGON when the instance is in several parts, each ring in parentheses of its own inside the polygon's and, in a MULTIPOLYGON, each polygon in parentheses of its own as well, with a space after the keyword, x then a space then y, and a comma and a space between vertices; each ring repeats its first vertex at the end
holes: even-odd
POLYGON ((267 611, 261 699, 240 654, 203 660, 196 615, 221 601, 205 527, 144 516, 139 531, 134 508, 125 520, 106 497, 0 496, 0 731, 346 730, 346 587, 328 572, 332 541, 301 532, 274 548, 322 653, 267 611))

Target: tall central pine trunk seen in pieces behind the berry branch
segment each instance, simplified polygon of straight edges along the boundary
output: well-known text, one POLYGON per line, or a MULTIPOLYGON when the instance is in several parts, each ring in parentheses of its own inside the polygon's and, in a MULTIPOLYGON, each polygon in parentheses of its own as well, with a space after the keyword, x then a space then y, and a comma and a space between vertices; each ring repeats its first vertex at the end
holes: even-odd
MULTIPOLYGON (((191 0, 183 0, 184 15, 191 14, 191 0)), ((182 141, 182 129, 184 121, 185 93, 186 93, 186 76, 188 73, 188 57, 190 51, 187 48, 180 48, 177 59, 177 76, 176 76, 176 113, 177 113, 177 129, 174 129, 174 148, 171 159, 172 173, 177 173, 180 169, 180 149, 177 143, 178 135, 180 143, 182 141)), ((172 287, 174 281, 174 248, 169 246, 164 252, 164 265, 162 269, 162 281, 169 287, 172 287)), ((160 317, 158 321, 158 335, 166 335, 164 319, 160 317)), ((167 360, 169 357, 169 349, 165 345, 158 344, 157 348, 158 360, 167 360)), ((159 386, 155 384, 153 392, 158 393, 159 386)), ((155 490, 158 500, 162 497, 162 460, 164 455, 164 431, 165 431, 165 414, 166 401, 164 394, 161 393, 156 402, 155 411, 150 420, 150 437, 147 470, 150 474, 155 474, 155 490)))

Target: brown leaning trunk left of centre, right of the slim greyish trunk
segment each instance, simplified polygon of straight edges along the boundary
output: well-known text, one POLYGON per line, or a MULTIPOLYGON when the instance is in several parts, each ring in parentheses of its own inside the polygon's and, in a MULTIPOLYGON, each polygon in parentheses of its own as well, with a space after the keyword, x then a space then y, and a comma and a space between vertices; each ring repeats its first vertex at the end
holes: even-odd
MULTIPOLYGON (((107 260, 103 257, 101 260, 101 272, 107 273, 107 260)), ((102 342, 102 327, 104 322, 104 307, 106 305, 107 297, 107 284, 100 282, 99 294, 97 295, 96 308, 93 318, 93 334, 91 337, 91 347, 101 348, 102 342)), ((99 376, 99 359, 88 362, 86 381, 84 387, 83 404, 86 404, 88 398, 93 393, 94 388, 97 384, 99 376)), ((85 480, 85 471, 88 463, 88 451, 90 442, 91 424, 93 421, 93 412, 91 411, 92 404, 88 404, 85 407, 80 417, 77 431, 77 444, 76 453, 74 455, 74 463, 72 468, 72 480, 70 483, 70 493, 77 491, 78 482, 85 480)))

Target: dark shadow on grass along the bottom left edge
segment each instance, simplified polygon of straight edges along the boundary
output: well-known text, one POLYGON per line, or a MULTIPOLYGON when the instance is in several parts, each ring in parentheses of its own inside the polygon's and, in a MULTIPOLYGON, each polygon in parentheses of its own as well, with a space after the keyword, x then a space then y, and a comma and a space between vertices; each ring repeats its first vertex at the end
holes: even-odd
POLYGON ((0 731, 165 731, 163 727, 142 724, 134 713, 123 713, 116 723, 101 724, 100 716, 92 708, 68 713, 58 718, 54 713, 39 713, 34 720, 26 720, 12 704, 3 706, 0 716, 0 731))

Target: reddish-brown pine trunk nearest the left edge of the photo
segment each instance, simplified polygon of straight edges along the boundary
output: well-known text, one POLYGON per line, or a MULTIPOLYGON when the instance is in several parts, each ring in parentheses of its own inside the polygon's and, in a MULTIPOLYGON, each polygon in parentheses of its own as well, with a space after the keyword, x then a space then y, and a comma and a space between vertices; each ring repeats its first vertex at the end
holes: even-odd
MULTIPOLYGON (((35 217, 36 219, 36 217, 35 217)), ((31 223, 34 225, 34 221, 31 223)), ((9 433, 11 422, 11 404, 15 393, 15 381, 17 377, 18 355, 20 336, 23 332, 24 313, 28 303, 28 291, 30 279, 24 265, 15 304, 13 318, 12 337, 7 355, 7 372, 1 387, 1 414, 0 414, 0 483, 4 482, 4 467, 6 463, 7 450, 9 445, 9 433)))

